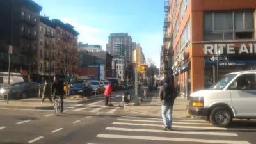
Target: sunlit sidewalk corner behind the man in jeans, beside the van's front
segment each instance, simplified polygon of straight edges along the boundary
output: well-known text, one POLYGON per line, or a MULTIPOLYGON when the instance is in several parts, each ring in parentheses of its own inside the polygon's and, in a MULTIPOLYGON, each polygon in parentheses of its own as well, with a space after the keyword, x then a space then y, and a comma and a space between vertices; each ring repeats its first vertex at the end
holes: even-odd
MULTIPOLYGON (((161 100, 158 98, 159 90, 150 92, 148 99, 143 99, 139 106, 124 106, 125 111, 132 113, 141 113, 149 116, 161 118, 161 100)), ((133 99, 134 100, 134 99, 133 99)), ((173 118, 188 118, 190 115, 186 112, 188 101, 177 97, 173 106, 173 118)))

